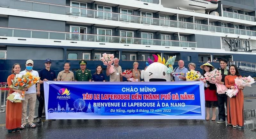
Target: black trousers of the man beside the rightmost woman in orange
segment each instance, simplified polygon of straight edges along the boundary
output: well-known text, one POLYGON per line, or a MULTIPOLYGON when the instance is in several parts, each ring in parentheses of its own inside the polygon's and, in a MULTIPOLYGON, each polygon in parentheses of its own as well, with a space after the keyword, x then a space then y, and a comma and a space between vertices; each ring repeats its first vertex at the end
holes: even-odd
POLYGON ((226 114, 225 114, 225 105, 226 103, 226 108, 228 108, 228 96, 226 94, 217 94, 217 99, 218 99, 218 109, 219 109, 219 120, 226 120, 226 114))

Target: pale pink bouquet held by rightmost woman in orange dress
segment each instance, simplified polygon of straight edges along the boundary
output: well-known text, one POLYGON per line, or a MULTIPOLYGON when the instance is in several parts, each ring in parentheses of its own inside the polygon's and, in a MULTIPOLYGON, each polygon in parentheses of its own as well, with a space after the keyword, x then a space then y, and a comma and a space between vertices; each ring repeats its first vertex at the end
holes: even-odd
POLYGON ((255 83, 254 79, 251 76, 248 77, 240 77, 240 78, 236 78, 235 79, 235 89, 228 89, 228 91, 226 92, 226 94, 231 98, 233 96, 236 96, 239 88, 240 87, 245 87, 245 86, 250 86, 252 87, 251 84, 255 83))

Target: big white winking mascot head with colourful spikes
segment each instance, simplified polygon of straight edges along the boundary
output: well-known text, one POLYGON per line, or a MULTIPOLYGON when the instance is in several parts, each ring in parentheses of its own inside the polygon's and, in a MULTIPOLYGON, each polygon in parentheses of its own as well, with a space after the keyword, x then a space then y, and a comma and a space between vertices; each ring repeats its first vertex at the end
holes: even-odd
POLYGON ((155 60, 154 62, 148 58, 148 62, 150 65, 147 67, 146 70, 141 70, 141 79, 144 78, 145 82, 166 82, 171 81, 171 75, 167 74, 167 67, 165 64, 165 59, 162 58, 160 55, 158 57, 156 55, 153 55, 155 60))

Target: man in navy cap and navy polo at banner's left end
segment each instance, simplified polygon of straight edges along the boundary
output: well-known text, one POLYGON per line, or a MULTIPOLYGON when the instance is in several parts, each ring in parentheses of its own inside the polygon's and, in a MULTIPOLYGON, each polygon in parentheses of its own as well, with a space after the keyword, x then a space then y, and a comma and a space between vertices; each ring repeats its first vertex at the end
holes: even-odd
MULTIPOLYGON (((55 71, 52 70, 50 67, 52 65, 51 59, 46 59, 44 61, 45 68, 39 71, 40 79, 44 79, 44 81, 56 81, 56 74, 55 71)), ((44 84, 37 84, 37 99, 39 101, 38 106, 38 120, 37 123, 40 123, 42 120, 42 114, 44 109, 44 84)))

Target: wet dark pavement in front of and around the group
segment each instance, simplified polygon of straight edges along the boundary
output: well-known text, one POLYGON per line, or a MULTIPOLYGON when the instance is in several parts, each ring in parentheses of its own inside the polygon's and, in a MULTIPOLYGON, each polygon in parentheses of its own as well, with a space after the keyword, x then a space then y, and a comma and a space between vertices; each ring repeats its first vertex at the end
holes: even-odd
MULTIPOLYGON (((59 138, 196 138, 196 139, 255 139, 256 84, 244 89, 244 128, 206 120, 45 120, 36 128, 7 133, 5 113, 0 113, 0 139, 59 139, 59 138)), ((3 104, 2 104, 3 105, 3 104)), ((38 101, 36 102, 37 115, 38 101)), ((5 108, 4 108, 5 109, 5 108)), ((216 112, 218 119, 218 110, 216 112)))

